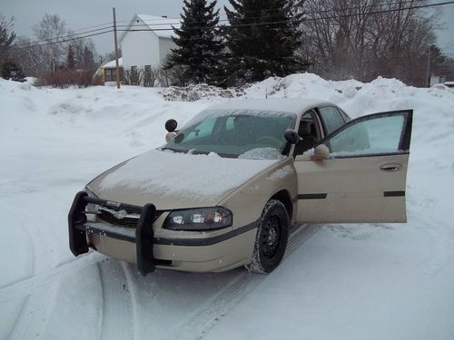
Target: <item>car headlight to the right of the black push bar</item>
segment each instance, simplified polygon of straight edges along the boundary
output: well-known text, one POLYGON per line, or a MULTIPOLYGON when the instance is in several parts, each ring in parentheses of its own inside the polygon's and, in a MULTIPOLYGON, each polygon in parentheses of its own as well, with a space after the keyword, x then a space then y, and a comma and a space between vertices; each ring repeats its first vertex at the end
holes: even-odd
POLYGON ((216 230, 232 226, 232 212, 222 207, 173 210, 163 228, 171 230, 216 230))

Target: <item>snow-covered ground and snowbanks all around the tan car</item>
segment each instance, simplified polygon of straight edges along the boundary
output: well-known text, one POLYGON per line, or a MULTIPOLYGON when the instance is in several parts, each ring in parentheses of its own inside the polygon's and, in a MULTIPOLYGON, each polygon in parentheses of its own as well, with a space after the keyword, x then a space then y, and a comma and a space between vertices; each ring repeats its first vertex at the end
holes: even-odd
POLYGON ((454 339, 453 90, 295 74, 242 91, 166 102, 160 89, 0 80, 0 339, 454 339), (88 180, 161 145, 169 118, 265 96, 321 98, 353 117, 414 109, 408 223, 309 226, 266 277, 141 277, 72 256, 67 212, 88 180))

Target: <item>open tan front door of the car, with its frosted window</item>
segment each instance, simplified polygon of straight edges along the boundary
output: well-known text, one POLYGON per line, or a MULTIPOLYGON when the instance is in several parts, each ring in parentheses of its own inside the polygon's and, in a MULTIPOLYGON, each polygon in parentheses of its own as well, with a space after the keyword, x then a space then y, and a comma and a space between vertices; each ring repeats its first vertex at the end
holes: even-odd
POLYGON ((382 112, 349 121, 321 141, 329 159, 297 156, 298 219, 406 222, 412 113, 382 112))

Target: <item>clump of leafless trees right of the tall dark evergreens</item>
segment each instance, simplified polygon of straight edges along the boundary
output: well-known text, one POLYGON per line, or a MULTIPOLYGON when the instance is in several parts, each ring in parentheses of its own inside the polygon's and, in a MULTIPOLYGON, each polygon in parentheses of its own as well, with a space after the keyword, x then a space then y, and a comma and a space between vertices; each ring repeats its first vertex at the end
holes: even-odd
POLYGON ((414 8, 419 0, 306 0, 301 8, 312 72, 334 79, 370 81, 378 75, 421 84, 424 51, 437 18, 414 8), (422 69, 421 69, 422 68, 422 69))

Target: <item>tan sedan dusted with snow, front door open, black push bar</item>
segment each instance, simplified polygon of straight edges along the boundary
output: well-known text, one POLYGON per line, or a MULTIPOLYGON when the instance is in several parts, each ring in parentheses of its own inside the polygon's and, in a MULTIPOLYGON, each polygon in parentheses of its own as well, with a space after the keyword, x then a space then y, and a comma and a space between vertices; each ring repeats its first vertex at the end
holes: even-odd
POLYGON ((74 256, 269 273, 302 223, 406 222, 412 111, 355 120, 330 102, 246 100, 196 115, 105 171, 70 210, 74 256))

